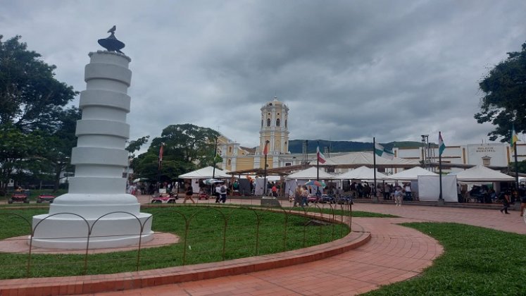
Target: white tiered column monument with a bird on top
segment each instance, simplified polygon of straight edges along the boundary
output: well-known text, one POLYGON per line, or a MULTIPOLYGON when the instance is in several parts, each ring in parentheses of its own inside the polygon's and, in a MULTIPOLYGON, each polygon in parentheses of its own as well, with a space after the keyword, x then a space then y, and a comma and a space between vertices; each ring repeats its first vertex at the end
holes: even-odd
MULTIPOLYGON (((113 37, 110 42, 119 42, 113 32, 100 40, 113 37)), ((120 44, 116 51, 124 47, 120 44)), ((70 178, 69 192, 50 204, 49 214, 33 216, 34 247, 85 249, 90 229, 90 249, 136 245, 139 238, 141 242, 154 238, 151 214, 139 212, 137 198, 125 193, 123 178, 128 161, 124 147, 130 133, 126 115, 130 113, 131 59, 106 49, 89 53, 86 90, 80 94, 82 119, 77 121, 77 147, 71 156, 75 177, 70 178)))

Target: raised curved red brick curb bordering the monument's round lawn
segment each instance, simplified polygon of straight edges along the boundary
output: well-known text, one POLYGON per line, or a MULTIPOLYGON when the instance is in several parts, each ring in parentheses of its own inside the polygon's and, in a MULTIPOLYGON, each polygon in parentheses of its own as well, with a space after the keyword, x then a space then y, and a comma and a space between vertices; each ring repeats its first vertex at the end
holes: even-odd
POLYGON ((370 233, 362 226, 356 223, 352 226, 357 230, 339 240, 277 254, 106 275, 0 280, 0 296, 75 295, 130 290, 303 264, 356 249, 371 239, 370 233))

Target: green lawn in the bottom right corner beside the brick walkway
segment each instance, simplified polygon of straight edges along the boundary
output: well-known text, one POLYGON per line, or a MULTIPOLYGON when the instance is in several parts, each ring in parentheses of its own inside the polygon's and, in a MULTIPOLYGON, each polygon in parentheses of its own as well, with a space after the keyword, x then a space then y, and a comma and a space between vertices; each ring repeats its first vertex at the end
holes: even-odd
POLYGON ((524 295, 526 235, 456 223, 404 223, 444 254, 422 275, 365 295, 524 295))

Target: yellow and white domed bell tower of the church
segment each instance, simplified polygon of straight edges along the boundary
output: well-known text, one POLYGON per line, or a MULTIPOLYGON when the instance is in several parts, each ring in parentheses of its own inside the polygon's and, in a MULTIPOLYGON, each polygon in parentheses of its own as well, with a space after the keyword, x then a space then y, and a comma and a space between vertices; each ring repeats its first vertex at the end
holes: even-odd
POLYGON ((274 97, 261 107, 261 130, 259 131, 259 152, 263 153, 268 141, 268 154, 289 152, 289 107, 274 97))

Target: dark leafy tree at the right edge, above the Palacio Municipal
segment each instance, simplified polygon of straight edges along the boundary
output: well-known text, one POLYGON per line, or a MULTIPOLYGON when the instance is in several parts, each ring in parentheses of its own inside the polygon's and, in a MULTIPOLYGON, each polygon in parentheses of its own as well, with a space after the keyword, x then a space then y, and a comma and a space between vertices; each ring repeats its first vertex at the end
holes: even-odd
POLYGON ((522 44, 522 51, 507 54, 508 58, 479 83, 484 97, 475 119, 496 125, 488 133, 492 141, 502 137, 501 142, 508 142, 512 123, 516 132, 526 132, 526 43, 522 44))

